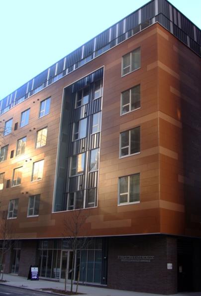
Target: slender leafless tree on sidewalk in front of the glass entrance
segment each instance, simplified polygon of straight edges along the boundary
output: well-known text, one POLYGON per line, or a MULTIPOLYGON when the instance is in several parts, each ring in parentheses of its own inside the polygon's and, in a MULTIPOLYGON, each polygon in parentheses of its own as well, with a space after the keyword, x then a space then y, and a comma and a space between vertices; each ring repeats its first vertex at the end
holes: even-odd
MULTIPOLYGON (((70 214, 70 213, 69 213, 70 214)), ((63 237, 69 242, 73 251, 73 266, 71 273, 71 292, 73 292, 73 275, 76 270, 76 252, 86 248, 89 240, 86 233, 86 220, 89 217, 89 211, 83 209, 77 209, 71 212, 70 217, 64 220, 64 233, 63 237)), ((66 280, 67 280, 67 270, 65 277, 65 291, 66 291, 66 280)), ((80 271, 78 272, 76 293, 78 292, 78 285, 80 280, 80 271)))

